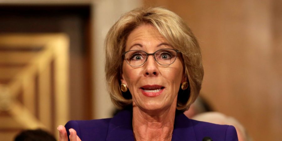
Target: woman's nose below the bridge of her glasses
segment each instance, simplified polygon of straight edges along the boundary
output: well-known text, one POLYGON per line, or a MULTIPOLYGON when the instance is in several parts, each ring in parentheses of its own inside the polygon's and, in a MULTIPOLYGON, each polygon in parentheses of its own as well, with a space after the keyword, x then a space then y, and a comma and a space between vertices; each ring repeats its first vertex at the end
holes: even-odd
POLYGON ((149 55, 148 59, 144 65, 144 76, 158 76, 159 68, 153 55, 149 55))

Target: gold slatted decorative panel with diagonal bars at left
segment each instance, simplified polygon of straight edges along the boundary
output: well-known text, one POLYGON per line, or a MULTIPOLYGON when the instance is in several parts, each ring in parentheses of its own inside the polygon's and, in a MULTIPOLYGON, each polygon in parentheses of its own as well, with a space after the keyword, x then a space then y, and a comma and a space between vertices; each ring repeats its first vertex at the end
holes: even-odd
POLYGON ((69 120, 65 34, 0 34, 0 141, 69 120))

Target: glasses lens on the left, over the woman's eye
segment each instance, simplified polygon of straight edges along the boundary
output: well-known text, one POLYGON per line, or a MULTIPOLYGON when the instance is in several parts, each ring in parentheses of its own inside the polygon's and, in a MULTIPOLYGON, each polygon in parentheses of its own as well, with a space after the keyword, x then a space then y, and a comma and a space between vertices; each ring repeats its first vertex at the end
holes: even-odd
POLYGON ((147 54, 141 50, 130 50, 125 53, 125 60, 129 65, 140 66, 146 61, 147 54))

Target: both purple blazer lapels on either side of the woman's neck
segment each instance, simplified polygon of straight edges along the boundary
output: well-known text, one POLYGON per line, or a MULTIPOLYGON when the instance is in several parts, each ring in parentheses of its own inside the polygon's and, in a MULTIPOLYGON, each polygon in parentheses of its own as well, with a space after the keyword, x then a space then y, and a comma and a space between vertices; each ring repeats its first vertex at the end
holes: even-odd
MULTIPOLYGON (((193 124, 183 113, 176 113, 172 141, 195 141, 193 124)), ((106 141, 134 141, 132 109, 123 110, 114 116, 108 127, 106 141)))

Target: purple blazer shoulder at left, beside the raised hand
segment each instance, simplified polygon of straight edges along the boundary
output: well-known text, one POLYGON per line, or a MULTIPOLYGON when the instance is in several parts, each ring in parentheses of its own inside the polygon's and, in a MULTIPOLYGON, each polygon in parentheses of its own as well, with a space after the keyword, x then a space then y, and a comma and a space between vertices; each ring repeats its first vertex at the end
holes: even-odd
POLYGON ((76 130, 77 135, 83 141, 104 141, 107 137, 108 126, 111 118, 95 120, 71 120, 65 124, 65 128, 70 135, 69 129, 76 130))

